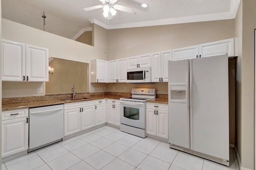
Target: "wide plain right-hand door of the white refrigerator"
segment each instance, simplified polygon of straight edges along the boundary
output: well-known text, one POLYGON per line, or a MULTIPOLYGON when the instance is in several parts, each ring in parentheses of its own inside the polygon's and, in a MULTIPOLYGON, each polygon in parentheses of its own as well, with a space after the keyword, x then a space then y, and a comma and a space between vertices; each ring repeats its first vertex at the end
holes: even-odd
POLYGON ((190 149, 229 160, 228 55, 190 60, 190 149))

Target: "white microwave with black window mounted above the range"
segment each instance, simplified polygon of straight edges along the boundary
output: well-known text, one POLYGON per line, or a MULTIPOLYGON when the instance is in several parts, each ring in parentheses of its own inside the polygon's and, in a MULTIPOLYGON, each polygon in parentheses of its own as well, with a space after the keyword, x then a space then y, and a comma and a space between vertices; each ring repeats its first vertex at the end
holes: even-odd
POLYGON ((126 69, 128 83, 150 83, 151 67, 126 69))

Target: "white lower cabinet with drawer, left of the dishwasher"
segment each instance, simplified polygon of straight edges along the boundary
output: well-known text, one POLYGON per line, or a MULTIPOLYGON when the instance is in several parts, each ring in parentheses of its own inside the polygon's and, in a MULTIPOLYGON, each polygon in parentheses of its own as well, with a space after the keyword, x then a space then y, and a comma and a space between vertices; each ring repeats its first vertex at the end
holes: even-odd
POLYGON ((28 149, 28 109, 2 112, 2 158, 28 149))

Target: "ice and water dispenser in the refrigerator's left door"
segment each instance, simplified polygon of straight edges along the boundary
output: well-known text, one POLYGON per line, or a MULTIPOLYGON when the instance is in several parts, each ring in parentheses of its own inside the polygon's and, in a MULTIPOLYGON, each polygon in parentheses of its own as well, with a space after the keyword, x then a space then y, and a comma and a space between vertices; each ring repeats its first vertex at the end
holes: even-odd
POLYGON ((169 102, 186 102, 186 83, 169 84, 169 102))

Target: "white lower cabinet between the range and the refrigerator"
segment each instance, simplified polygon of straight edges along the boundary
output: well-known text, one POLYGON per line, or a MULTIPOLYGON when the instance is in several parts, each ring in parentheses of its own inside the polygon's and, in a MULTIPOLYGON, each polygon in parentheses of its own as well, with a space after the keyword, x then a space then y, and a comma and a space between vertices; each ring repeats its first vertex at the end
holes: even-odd
POLYGON ((146 133, 168 139, 168 104, 146 103, 146 133), (152 109, 151 105, 154 105, 152 109), (165 111, 164 111, 165 110, 165 111))

